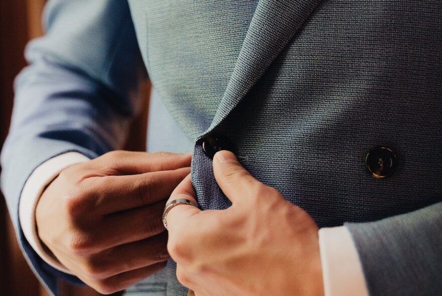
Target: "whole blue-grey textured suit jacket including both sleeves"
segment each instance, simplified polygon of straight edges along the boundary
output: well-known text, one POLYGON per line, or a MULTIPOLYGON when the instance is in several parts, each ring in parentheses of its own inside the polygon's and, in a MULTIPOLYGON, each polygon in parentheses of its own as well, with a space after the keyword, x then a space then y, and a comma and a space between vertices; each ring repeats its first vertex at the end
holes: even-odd
MULTIPOLYGON (((33 268, 53 292, 68 278, 21 233, 23 184, 56 155, 120 147, 147 68, 194 144, 203 209, 230 205, 202 149, 212 136, 320 227, 346 223, 370 294, 439 293, 441 16, 442 2, 429 0, 50 1, 2 154, 3 190, 33 268), (380 145, 397 165, 376 179, 365 157, 380 145)), ((139 288, 185 294, 174 267, 139 288)))

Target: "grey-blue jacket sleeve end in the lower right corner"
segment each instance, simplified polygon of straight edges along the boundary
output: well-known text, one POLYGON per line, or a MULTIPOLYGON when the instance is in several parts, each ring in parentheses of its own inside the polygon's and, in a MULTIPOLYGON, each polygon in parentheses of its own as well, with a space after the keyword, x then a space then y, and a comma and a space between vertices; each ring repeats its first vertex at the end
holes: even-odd
POLYGON ((369 223, 347 223, 370 295, 442 291, 442 202, 369 223))

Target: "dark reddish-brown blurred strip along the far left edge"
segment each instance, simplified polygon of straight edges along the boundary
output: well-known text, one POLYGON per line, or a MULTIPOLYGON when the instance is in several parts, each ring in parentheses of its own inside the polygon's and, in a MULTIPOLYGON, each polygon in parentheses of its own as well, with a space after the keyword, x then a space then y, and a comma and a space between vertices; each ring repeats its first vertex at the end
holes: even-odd
MULTIPOLYGON (((0 1, 0 146, 8 133, 13 105, 13 81, 26 65, 23 48, 28 41, 28 17, 25 1, 0 1)), ((26 264, 20 249, 17 249, 3 196, 0 197, 1 247, 0 293, 6 295, 39 295, 38 281, 26 264), (11 240, 11 237, 13 240, 11 240)))

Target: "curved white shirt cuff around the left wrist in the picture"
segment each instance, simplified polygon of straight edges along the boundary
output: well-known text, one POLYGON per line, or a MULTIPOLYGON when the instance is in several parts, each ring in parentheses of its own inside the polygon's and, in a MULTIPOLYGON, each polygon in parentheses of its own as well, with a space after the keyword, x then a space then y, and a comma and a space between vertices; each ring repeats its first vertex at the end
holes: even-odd
POLYGON ((43 248, 37 234, 35 209, 46 186, 51 183, 65 168, 88 161, 78 152, 68 152, 41 164, 29 176, 20 196, 19 219, 23 234, 35 252, 50 266, 68 274, 73 274, 58 260, 49 255, 43 248))

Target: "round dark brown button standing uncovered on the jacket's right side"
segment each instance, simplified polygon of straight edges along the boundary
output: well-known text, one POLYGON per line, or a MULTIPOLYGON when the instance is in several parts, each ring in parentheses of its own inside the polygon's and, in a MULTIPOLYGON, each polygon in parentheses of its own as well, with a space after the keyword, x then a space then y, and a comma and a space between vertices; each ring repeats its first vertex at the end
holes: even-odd
POLYGON ((396 154, 389 147, 374 147, 365 157, 365 167, 377 179, 391 176, 397 167, 396 154))

